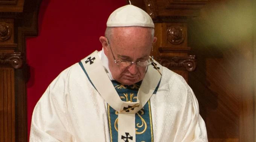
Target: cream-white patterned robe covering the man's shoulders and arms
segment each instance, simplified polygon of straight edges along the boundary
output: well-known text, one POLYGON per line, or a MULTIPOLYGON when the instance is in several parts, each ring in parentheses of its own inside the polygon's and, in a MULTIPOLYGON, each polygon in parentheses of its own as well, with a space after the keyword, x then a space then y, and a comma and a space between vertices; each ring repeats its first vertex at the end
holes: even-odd
MULTIPOLYGON (((102 86, 104 87, 104 86, 102 86)), ((163 68, 150 98, 154 142, 207 142, 192 89, 163 68)), ((62 71, 35 106, 31 142, 110 142, 108 105, 76 63, 62 71)))

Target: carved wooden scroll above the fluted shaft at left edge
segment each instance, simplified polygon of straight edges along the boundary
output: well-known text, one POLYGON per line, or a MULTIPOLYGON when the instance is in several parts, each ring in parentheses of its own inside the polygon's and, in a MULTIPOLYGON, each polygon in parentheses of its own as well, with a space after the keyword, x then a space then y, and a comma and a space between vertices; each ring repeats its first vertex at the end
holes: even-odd
POLYGON ((0 65, 1 66, 12 66, 17 69, 23 64, 22 54, 20 52, 14 53, 0 53, 0 65))

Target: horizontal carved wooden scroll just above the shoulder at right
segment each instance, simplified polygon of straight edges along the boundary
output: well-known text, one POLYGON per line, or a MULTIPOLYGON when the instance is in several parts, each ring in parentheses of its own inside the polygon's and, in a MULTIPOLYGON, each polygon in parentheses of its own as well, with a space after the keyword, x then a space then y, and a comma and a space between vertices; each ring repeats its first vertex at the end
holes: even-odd
POLYGON ((161 65, 169 69, 185 69, 187 71, 194 71, 197 66, 195 56, 161 56, 158 57, 157 60, 161 65))

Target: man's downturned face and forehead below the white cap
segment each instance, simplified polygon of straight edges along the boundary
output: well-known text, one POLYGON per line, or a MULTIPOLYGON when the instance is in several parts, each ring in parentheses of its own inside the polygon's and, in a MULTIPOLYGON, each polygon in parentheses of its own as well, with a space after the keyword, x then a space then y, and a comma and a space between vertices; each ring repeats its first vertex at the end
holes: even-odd
POLYGON ((148 60, 152 47, 151 30, 145 27, 115 27, 112 29, 109 40, 110 46, 104 47, 104 51, 108 57, 108 66, 113 78, 124 85, 132 85, 143 80, 146 66, 136 64, 127 67, 118 66, 113 56, 117 62, 148 60))

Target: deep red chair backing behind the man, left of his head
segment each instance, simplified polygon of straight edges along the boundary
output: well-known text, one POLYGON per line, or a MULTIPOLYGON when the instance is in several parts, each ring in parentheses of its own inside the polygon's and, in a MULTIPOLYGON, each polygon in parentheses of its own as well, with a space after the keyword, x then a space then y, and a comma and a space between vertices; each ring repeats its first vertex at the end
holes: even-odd
POLYGON ((104 35, 107 18, 123 5, 126 0, 43 0, 39 35, 26 40, 28 134, 33 109, 47 86, 62 70, 101 50, 99 36, 104 35))

